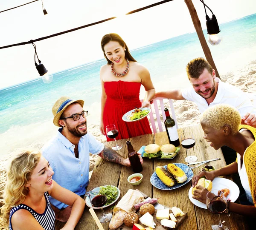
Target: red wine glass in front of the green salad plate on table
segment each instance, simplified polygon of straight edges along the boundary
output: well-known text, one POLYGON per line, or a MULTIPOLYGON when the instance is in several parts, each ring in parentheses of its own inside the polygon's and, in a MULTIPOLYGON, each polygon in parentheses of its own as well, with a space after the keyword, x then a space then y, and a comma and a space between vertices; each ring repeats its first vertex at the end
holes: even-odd
POLYGON ((100 207, 103 215, 99 217, 101 223, 106 223, 111 220, 112 214, 105 213, 103 207, 107 202, 107 197, 99 193, 99 187, 94 187, 89 191, 90 203, 93 207, 100 207))

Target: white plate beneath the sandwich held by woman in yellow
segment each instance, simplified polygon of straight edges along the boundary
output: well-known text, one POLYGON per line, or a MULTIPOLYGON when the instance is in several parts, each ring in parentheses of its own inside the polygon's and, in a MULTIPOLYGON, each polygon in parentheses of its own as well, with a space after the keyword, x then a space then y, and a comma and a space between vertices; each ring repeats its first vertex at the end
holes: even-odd
MULTIPOLYGON (((227 199, 231 199, 232 202, 235 202, 236 199, 239 197, 240 193, 239 187, 236 185, 236 183, 222 177, 214 178, 214 180, 212 181, 212 190, 221 190, 224 188, 228 188, 230 190, 230 194, 227 196, 227 199)), ((192 198, 192 187, 189 189, 189 199, 196 206, 207 209, 206 204, 192 198)))

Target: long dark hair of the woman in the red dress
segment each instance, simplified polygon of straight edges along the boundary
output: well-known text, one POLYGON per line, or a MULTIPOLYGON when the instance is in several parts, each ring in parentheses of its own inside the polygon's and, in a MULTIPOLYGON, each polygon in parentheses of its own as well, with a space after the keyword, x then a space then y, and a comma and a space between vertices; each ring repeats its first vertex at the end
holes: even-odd
POLYGON ((104 46, 106 44, 108 44, 110 41, 114 41, 114 42, 118 42, 119 45, 121 45, 122 47, 125 47, 125 59, 128 59, 129 61, 133 61, 133 62, 137 62, 132 56, 131 53, 128 49, 128 46, 125 44, 125 41, 122 40, 122 37, 120 37, 118 34, 105 34, 102 37, 102 41, 101 41, 101 47, 102 47, 102 51, 104 53, 104 57, 106 58, 106 60, 108 61, 108 64, 110 65, 112 62, 107 58, 106 54, 105 54, 105 50, 104 50, 104 46))

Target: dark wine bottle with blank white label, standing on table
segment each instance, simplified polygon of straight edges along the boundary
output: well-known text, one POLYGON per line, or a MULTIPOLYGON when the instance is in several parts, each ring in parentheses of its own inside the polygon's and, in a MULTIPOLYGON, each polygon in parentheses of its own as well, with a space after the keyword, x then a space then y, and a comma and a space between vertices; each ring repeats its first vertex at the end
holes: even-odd
POLYGON ((180 140, 179 140, 177 128, 175 125, 175 121, 174 119, 171 118, 168 108, 165 108, 164 112, 166 114, 166 120, 164 121, 164 125, 166 127, 169 143, 177 147, 180 145, 180 140))

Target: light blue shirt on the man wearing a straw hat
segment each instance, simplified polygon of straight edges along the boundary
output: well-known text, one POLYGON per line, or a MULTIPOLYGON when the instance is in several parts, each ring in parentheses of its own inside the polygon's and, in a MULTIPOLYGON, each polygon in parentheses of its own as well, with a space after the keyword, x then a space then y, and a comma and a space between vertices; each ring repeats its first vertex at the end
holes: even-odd
MULTIPOLYGON (((54 138, 43 146, 42 154, 49 161, 54 171, 52 179, 55 182, 79 196, 84 195, 85 187, 89 183, 89 153, 99 154, 105 145, 98 142, 92 134, 87 133, 79 140, 79 158, 76 158, 74 153, 75 145, 63 136, 61 131, 62 128, 58 130, 54 138)), ((49 200, 59 209, 68 206, 53 199, 51 196, 49 200)))

